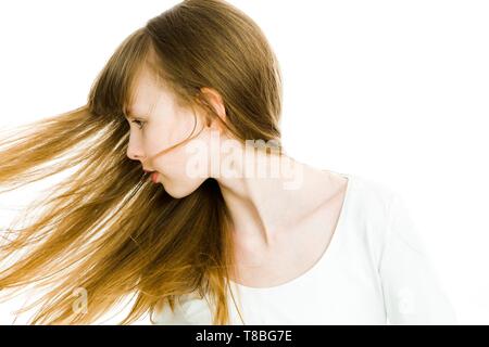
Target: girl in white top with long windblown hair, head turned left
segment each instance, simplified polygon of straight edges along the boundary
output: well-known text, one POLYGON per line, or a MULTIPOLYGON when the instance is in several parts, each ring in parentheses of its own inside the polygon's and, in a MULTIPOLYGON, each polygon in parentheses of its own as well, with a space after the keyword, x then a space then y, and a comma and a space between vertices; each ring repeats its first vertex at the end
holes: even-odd
POLYGON ((10 230, 1 256, 28 252, 0 288, 49 288, 33 324, 92 323, 131 294, 122 324, 453 323, 399 194, 288 156, 280 112, 279 64, 241 11, 151 18, 86 105, 1 141, 2 185, 76 170, 10 230))

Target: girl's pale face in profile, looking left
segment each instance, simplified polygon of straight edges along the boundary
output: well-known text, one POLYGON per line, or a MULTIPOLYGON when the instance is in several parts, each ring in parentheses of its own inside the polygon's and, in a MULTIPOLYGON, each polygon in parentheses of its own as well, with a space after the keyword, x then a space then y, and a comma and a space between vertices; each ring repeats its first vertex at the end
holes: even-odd
POLYGON ((193 116, 192 110, 178 106, 175 97, 159 86, 146 68, 138 76, 135 101, 127 110, 127 121, 130 126, 127 156, 141 162, 141 170, 155 171, 152 176, 155 176, 156 184, 163 184, 170 195, 175 198, 184 197, 209 178, 206 166, 206 170, 196 175, 196 170, 189 168, 187 163, 208 163, 210 153, 196 150, 189 152, 187 149, 195 149, 196 144, 200 149, 206 145, 210 127, 205 126, 197 108, 193 116), (188 137, 193 137, 202 128, 204 130, 195 139, 153 157, 188 137))

